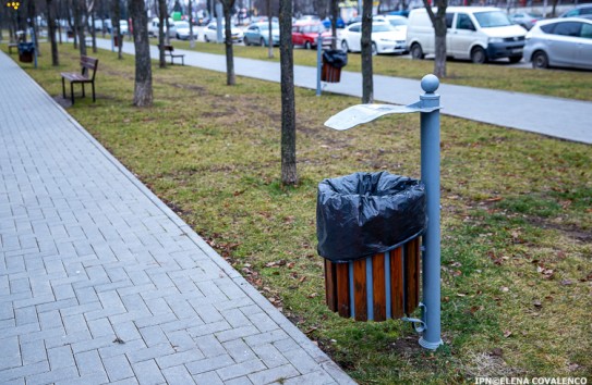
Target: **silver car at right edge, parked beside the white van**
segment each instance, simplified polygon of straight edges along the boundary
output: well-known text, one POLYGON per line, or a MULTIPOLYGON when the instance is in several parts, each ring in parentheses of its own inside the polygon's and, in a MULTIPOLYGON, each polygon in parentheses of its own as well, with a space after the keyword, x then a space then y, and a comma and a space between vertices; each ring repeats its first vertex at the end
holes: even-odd
POLYGON ((561 17, 536 23, 527 34, 524 60, 534 69, 592 70, 592 21, 561 17))

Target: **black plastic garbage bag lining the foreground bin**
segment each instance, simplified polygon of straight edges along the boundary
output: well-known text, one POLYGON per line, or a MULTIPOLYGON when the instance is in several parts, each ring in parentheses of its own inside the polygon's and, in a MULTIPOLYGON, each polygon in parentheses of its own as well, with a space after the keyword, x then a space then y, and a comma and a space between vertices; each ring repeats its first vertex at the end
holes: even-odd
POLYGON ((316 200, 317 251, 342 263, 392 250, 427 224, 425 188, 387 172, 324 179, 316 200))

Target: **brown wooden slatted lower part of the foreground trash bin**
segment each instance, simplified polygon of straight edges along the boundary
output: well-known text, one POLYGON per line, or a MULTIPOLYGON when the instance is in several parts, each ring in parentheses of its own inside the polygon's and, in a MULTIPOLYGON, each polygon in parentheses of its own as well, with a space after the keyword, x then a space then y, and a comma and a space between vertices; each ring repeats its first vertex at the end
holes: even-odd
POLYGON ((420 301, 420 239, 349 263, 325 260, 329 309, 355 321, 386 321, 411 314, 420 301))

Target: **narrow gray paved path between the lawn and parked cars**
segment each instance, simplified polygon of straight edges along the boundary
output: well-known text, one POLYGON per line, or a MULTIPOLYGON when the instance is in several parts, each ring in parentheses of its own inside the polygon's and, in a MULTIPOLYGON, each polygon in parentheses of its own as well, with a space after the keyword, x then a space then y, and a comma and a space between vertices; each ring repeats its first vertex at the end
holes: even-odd
MULTIPOLYGON (((109 40, 97 39, 97 46, 111 49, 109 40)), ((123 51, 133 54, 135 52, 133 42, 125 41, 123 51)), ((226 72, 223 55, 176 48, 177 51, 185 54, 186 65, 226 72)), ((154 59, 158 59, 156 47, 153 46, 150 52, 154 59)), ((240 76, 269 82, 280 79, 279 63, 234 57, 234 70, 240 76)), ((551 75, 552 72, 541 72, 541 76, 551 75)), ((299 87, 316 89, 316 67, 295 65, 294 84, 299 87)), ((341 82, 327 84, 325 91, 361 98, 362 76, 360 73, 342 71, 341 82)), ((420 80, 374 76, 376 102, 411 104, 419 100, 420 92, 420 80)), ((448 85, 446 82, 440 85, 438 94, 444 107, 443 114, 592 144, 592 102, 590 101, 456 86, 448 85)), ((330 114, 330 112, 327 113, 327 119, 330 114)))

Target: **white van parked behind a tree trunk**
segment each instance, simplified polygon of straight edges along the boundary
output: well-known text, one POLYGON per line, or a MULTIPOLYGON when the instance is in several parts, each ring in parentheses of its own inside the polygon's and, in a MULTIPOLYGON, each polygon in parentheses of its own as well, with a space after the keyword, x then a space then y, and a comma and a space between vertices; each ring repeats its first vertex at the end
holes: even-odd
MULTIPOLYGON (((434 10, 434 14, 436 10, 434 10)), ((507 14, 491 7, 448 7, 446 9, 446 55, 470 59, 473 63, 508 58, 522 59, 527 30, 512 24, 507 14)), ((413 59, 435 53, 435 32, 425 8, 409 14, 407 47, 413 59)))

